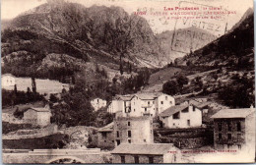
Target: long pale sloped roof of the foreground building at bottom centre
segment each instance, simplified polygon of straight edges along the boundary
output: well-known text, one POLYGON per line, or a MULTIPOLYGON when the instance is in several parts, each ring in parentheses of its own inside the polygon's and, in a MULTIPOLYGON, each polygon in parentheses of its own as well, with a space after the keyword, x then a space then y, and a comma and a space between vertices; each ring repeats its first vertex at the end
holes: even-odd
MULTIPOLYGON (((131 144, 121 143, 111 153, 161 155, 173 150, 172 143, 131 144)), ((176 148, 176 147, 175 147, 176 148)))

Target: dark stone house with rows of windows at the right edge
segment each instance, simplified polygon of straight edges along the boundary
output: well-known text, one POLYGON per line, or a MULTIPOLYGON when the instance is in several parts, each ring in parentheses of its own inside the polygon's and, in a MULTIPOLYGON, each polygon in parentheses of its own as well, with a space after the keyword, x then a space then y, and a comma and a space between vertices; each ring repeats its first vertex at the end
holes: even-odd
POLYGON ((215 148, 254 148, 255 153, 254 108, 223 109, 212 118, 214 119, 215 148))

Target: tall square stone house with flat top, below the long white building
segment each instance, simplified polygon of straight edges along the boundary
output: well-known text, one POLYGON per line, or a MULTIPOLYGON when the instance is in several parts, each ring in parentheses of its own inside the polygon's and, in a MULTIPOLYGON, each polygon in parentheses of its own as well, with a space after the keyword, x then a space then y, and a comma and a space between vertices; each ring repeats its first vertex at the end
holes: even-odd
POLYGON ((115 146, 120 143, 153 143, 153 119, 148 116, 114 119, 115 146))

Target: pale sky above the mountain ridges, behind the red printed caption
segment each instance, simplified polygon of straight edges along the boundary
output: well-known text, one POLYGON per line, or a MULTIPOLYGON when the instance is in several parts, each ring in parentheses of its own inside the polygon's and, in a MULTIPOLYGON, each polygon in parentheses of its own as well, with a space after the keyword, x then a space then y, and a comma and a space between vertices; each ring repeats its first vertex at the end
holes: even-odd
MULTIPOLYGON (((165 20, 164 16, 149 14, 149 11, 154 13, 164 12, 163 8, 175 8, 179 6, 178 0, 66 0, 68 2, 76 2, 83 4, 85 7, 91 7, 93 5, 104 6, 120 6, 129 14, 136 12, 138 9, 143 11, 147 9, 147 15, 142 16, 148 20, 148 23, 152 27, 155 33, 160 33, 164 30, 172 30, 175 25, 181 25, 181 20, 170 19, 165 20)), ((1 20, 13 19, 18 15, 26 12, 36 6, 46 3, 47 0, 2 0, 1 1, 1 20)), ((188 4, 197 3, 202 5, 210 5, 213 7, 222 7, 228 11, 235 11, 235 14, 228 15, 223 21, 224 25, 227 25, 227 29, 237 23, 242 15, 248 8, 253 8, 253 0, 186 0, 188 4), (226 24, 227 23, 227 24, 226 24)), ((186 3, 181 3, 181 6, 186 3)), ((192 7, 191 6, 191 7, 192 7)), ((198 5, 195 5, 198 6, 198 5)), ((208 22, 211 22, 208 20, 208 22)), ((177 27, 176 27, 177 28, 177 27)), ((182 28, 182 26, 180 27, 182 28)), ((223 32, 223 31, 222 31, 223 32)))

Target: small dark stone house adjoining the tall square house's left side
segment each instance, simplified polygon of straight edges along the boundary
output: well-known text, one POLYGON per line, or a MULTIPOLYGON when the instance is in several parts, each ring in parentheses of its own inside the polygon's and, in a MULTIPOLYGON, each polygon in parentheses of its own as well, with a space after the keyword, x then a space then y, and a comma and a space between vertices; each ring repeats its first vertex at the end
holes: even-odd
POLYGON ((97 147, 114 148, 114 123, 110 123, 97 131, 97 147))

